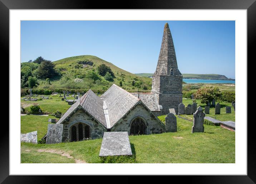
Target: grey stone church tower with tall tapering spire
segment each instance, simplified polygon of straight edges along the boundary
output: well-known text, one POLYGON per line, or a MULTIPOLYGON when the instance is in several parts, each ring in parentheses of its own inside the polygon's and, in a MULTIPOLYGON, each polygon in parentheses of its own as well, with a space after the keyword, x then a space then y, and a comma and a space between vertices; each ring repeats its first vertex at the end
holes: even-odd
POLYGON ((152 92, 156 94, 158 104, 163 107, 162 114, 168 114, 170 108, 178 113, 178 104, 182 103, 182 78, 171 31, 166 23, 157 68, 152 76, 152 92))

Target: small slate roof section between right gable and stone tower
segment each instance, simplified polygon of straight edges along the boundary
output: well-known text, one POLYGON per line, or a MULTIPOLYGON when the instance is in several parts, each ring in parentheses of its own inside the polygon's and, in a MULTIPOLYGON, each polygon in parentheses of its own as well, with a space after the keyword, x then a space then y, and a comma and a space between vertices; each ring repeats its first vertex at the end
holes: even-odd
MULTIPOLYGON (((138 93, 131 93, 133 96, 138 98, 138 93)), ((154 93, 140 93, 139 99, 151 110, 160 111, 156 94, 154 93)))

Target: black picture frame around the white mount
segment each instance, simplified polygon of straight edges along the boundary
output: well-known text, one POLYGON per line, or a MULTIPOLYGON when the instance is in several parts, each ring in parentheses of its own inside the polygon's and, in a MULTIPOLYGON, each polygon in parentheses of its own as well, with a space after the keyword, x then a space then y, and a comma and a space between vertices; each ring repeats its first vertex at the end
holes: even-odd
MULTIPOLYGON (((247 61, 255 61, 256 39, 256 2, 255 0, 130 0, 127 3, 109 1, 82 0, 0 0, 0 48, 9 61, 9 10, 10 9, 246 9, 247 10, 247 61)), ((246 63, 246 61, 245 61, 246 63)), ((249 62, 247 62, 249 63, 249 62)), ((11 70, 11 68, 9 68, 11 70)), ((247 89, 246 89, 247 91, 247 89)), ((9 111, 10 113, 10 111, 9 111)), ((246 120, 247 120, 247 114, 246 120)), ((246 123, 246 122, 245 122, 246 123)), ((0 182, 3 183, 52 183, 49 176, 10 176, 9 175, 9 126, 7 123, 1 129, 0 141, 0 182), (8 131, 7 131, 8 130, 8 131)), ((247 124, 247 175, 218 176, 187 176, 179 177, 179 182, 190 180, 196 183, 255 183, 255 126, 254 122, 247 124)), ((87 176, 88 177, 88 176, 87 176)), ((171 176, 175 177, 175 176, 171 176)), ((59 176, 68 183, 73 177, 59 176)), ((104 177, 108 180, 109 177, 104 177)), ((150 179, 150 178, 148 178, 150 179)), ((174 179, 174 178, 173 178, 174 179)), ((172 180, 173 180, 172 179, 172 180)), ((145 181, 146 182, 146 181, 145 181)))

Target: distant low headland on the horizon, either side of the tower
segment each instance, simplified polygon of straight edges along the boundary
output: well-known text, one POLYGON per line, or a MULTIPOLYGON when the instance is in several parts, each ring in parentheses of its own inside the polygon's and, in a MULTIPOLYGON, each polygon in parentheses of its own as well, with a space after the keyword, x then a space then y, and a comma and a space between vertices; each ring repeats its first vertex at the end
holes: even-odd
MULTIPOLYGON (((153 73, 136 73, 140 77, 152 77, 153 73)), ((193 79, 206 79, 206 80, 234 80, 232 78, 227 78, 225 75, 219 74, 191 74, 183 73, 183 78, 193 78, 193 79)))

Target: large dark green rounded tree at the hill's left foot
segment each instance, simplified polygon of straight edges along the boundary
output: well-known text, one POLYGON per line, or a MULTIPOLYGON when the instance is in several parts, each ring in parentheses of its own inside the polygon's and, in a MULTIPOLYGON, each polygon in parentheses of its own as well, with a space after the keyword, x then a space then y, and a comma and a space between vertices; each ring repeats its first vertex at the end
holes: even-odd
POLYGON ((36 75, 41 79, 51 78, 57 75, 55 65, 49 60, 41 62, 36 75))

